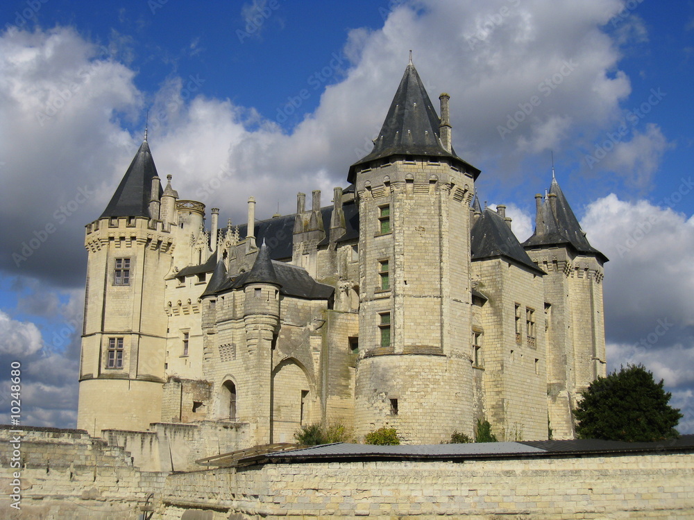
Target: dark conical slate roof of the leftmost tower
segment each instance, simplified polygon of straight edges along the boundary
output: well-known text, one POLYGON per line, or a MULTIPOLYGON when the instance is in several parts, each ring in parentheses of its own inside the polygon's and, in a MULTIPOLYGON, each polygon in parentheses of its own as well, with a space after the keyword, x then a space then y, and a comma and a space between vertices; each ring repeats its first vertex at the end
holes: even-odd
MULTIPOLYGON (((119 216, 143 216, 149 218, 149 201, 152 195, 152 178, 157 175, 152 153, 147 141, 142 141, 139 150, 128 166, 123 180, 118 185, 108 206, 99 218, 119 216)), ((162 186, 159 185, 159 196, 162 186)))

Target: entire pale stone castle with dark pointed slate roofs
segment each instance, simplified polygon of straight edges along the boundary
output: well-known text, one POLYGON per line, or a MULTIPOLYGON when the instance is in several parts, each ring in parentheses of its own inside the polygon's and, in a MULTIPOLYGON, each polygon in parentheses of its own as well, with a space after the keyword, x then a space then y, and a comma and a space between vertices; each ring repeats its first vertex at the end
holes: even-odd
POLYGON ((451 146, 410 62, 373 151, 332 205, 219 225, 162 189, 146 136, 87 225, 78 428, 234 424, 235 447, 339 421, 439 443, 573 438, 605 374, 603 264, 552 178, 519 243, 451 146))

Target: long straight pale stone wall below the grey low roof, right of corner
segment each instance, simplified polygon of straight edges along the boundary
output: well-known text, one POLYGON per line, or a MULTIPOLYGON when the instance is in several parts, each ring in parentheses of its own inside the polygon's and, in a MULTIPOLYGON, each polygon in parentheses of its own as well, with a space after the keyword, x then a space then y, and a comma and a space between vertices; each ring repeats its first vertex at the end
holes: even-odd
POLYGON ((172 475, 162 519, 694 517, 694 455, 268 464, 172 475), (513 516, 511 516, 513 515, 513 516))

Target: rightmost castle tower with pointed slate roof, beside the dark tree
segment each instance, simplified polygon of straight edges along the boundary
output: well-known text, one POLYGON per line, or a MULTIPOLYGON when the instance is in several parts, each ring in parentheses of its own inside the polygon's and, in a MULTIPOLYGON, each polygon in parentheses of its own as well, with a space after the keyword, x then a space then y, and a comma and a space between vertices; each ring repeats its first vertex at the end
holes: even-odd
POLYGON ((593 248, 557 179, 535 196, 535 232, 523 243, 545 272, 548 407, 557 439, 575 435, 579 393, 606 374, 602 278, 607 257, 593 248))

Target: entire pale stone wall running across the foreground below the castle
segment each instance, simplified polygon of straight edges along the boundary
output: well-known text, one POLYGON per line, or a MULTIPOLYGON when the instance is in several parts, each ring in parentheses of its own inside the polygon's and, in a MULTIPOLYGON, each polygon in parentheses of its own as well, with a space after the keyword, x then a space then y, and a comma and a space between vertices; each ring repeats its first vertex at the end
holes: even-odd
MULTIPOLYGON (((10 445, 10 430, 0 442, 10 445)), ((21 510, 10 508, 10 451, 0 451, 0 518, 153 520, 690 519, 694 449, 446 461, 304 462, 167 474, 78 430, 24 428, 21 510), (185 515, 185 516, 184 516, 185 515)))

